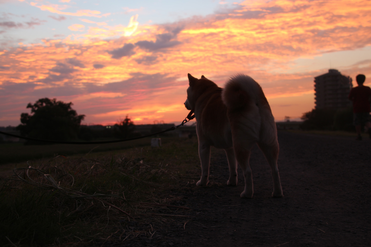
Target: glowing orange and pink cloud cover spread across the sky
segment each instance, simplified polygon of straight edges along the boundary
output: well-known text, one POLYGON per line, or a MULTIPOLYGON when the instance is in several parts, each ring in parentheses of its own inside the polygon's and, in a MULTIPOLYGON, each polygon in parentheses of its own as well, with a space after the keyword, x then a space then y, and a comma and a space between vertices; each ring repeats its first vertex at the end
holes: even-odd
MULTIPOLYGON (((60 14, 61 8, 43 10, 60 14)), ((287 72, 295 59, 371 45, 371 5, 363 0, 244 1, 229 13, 166 25, 139 25, 137 17, 128 26, 86 31, 74 24, 70 30, 82 33, 0 51, 1 105, 20 112, 48 96, 73 101, 88 122, 114 122, 126 114, 137 123, 159 116, 181 121, 187 73, 219 86, 245 73, 261 84, 276 119, 297 117, 314 106, 313 77, 327 68, 287 72)), ((339 69, 371 77, 367 59, 339 69)), ((7 119, 0 123, 9 121, 0 112, 7 119)))

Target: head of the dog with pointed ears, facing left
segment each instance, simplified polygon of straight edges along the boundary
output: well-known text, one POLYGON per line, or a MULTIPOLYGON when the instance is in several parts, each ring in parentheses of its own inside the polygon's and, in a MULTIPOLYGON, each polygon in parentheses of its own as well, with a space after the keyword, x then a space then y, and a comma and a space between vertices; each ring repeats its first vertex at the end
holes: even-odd
POLYGON ((200 97, 209 87, 217 87, 217 85, 204 76, 201 76, 201 79, 197 79, 189 73, 188 80, 189 87, 187 89, 187 100, 185 100, 184 106, 187 110, 194 110, 198 97, 200 97))

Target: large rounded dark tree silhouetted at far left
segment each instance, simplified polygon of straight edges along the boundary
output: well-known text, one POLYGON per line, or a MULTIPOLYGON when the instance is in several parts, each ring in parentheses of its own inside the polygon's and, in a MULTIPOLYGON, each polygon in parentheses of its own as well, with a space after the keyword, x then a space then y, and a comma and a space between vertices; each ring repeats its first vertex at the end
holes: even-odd
MULTIPOLYGON (((31 114, 22 113, 21 123, 17 126, 21 134, 27 137, 46 140, 73 140, 77 137, 81 120, 85 115, 78 115, 71 108, 72 102, 64 103, 56 99, 43 98, 35 104, 27 104, 31 114)), ((36 144, 28 141, 27 144, 36 144)))

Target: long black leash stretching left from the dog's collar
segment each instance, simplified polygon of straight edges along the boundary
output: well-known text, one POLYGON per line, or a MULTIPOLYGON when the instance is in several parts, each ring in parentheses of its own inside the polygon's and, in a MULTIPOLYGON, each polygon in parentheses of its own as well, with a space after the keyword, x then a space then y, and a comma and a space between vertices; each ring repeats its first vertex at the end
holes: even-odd
POLYGON ((0 131, 0 134, 6 135, 6 136, 13 136, 13 137, 17 137, 17 138, 21 138, 21 139, 25 139, 25 140, 40 141, 40 142, 47 142, 47 143, 59 143, 59 144, 105 144, 105 143, 116 143, 116 142, 121 142, 121 141, 136 140, 136 139, 140 139, 140 138, 145 138, 145 137, 149 137, 149 136, 154 136, 154 135, 157 135, 157 134, 165 133, 165 132, 170 131, 170 130, 175 130, 176 128, 179 128, 180 126, 183 126, 188 121, 194 119, 194 114, 193 115, 192 114, 193 114, 193 110, 191 110, 190 113, 188 114, 188 116, 182 121, 182 123, 181 124, 178 124, 177 126, 173 126, 171 128, 168 128, 166 130, 162 130, 162 131, 157 132, 157 133, 153 133, 153 134, 149 134, 149 135, 145 135, 145 136, 141 136, 141 137, 132 137, 132 138, 127 138, 127 139, 121 139, 121 140, 111 140, 111 141, 54 141, 54 140, 43 140, 43 139, 37 139, 37 138, 32 138, 32 137, 18 136, 18 135, 6 133, 6 132, 3 132, 3 131, 0 131))

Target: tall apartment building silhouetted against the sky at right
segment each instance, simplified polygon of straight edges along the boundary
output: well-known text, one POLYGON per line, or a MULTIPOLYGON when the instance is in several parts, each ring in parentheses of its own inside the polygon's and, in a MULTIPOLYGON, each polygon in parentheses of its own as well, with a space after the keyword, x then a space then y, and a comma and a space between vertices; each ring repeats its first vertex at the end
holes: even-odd
POLYGON ((352 79, 335 69, 314 77, 315 108, 336 110, 351 106, 348 95, 352 86, 352 79))

